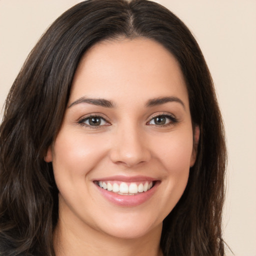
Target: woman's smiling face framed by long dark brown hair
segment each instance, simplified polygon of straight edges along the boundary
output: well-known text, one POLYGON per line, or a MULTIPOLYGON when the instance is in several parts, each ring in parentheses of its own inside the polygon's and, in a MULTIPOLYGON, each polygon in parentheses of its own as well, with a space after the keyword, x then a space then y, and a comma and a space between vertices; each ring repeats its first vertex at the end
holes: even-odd
POLYGON ((45 160, 66 228, 122 238, 160 232, 195 160, 188 94, 172 54, 145 38, 90 48, 45 160))

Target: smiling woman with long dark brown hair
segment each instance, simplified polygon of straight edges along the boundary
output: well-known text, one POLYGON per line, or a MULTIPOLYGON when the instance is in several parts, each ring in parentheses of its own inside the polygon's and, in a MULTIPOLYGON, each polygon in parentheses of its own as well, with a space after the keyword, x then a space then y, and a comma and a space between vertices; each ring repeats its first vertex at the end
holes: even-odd
POLYGON ((186 26, 151 1, 81 2, 6 100, 1 255, 223 255, 225 157, 186 26))

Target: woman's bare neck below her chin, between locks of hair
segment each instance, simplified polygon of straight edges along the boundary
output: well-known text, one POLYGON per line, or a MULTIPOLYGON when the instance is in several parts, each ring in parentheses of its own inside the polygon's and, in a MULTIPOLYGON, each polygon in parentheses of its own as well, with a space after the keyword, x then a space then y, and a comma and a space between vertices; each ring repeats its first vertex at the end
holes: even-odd
POLYGON ((136 238, 119 238, 59 218, 54 232, 56 256, 161 256, 161 225, 136 238))

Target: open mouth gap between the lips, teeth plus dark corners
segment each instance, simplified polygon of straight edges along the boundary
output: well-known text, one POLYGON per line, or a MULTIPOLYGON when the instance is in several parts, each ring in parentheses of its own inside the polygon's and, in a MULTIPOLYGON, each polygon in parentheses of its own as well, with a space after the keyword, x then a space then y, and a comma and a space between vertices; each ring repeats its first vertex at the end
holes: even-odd
POLYGON ((120 195, 136 195, 151 189, 155 181, 118 182, 118 181, 95 181, 99 187, 120 195))

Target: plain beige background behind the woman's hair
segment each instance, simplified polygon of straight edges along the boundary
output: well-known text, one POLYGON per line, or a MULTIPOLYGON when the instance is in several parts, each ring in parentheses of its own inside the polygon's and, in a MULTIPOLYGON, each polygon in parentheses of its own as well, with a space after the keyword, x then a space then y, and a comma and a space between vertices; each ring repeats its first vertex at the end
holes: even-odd
MULTIPOLYGON (((77 2, 0 0, 0 107, 39 36, 77 2)), ((192 30, 211 70, 229 152, 224 238, 235 255, 256 256, 256 0, 157 2, 192 30)))

